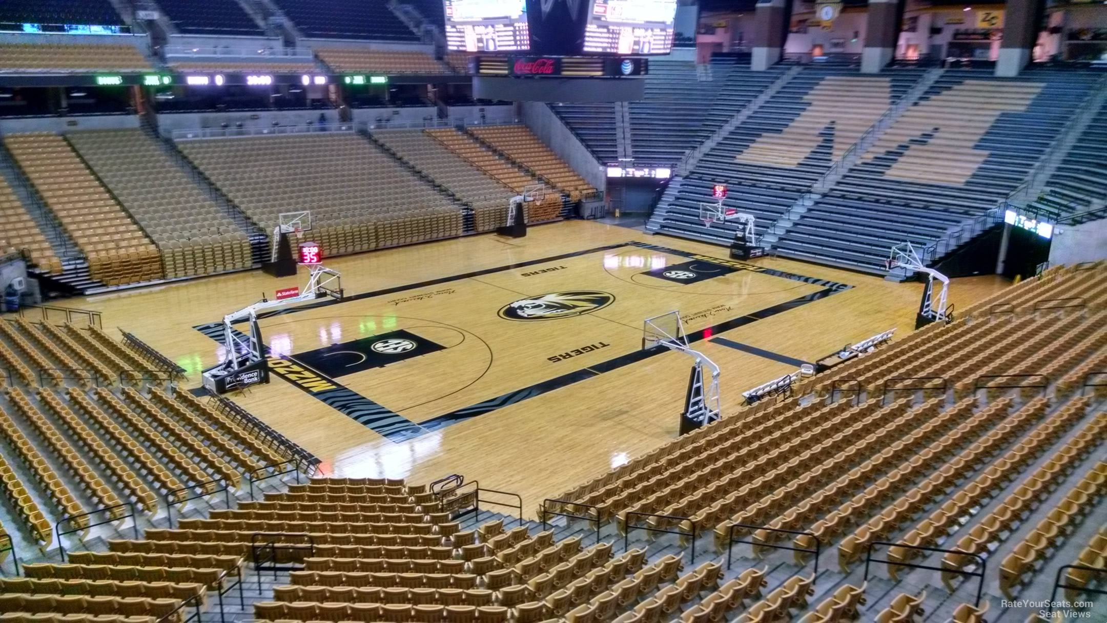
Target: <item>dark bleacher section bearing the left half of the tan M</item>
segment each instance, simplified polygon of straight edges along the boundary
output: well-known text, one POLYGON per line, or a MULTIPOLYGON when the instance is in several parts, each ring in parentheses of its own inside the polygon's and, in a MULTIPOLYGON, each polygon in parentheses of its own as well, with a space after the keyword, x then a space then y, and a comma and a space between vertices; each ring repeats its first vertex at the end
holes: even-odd
POLYGON ((763 233, 920 76, 918 70, 879 76, 834 66, 803 70, 703 156, 663 207, 661 230, 711 235, 699 205, 714 203, 712 186, 726 184, 724 205, 754 215, 763 233))

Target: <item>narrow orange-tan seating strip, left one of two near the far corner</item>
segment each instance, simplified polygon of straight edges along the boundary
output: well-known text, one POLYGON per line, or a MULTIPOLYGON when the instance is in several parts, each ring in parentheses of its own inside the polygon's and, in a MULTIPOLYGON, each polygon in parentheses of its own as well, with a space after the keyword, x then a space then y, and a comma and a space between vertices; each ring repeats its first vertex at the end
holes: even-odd
POLYGON ((473 136, 455 128, 427 129, 426 133, 457 154, 465 162, 477 167, 516 195, 534 193, 534 201, 526 205, 527 222, 545 222, 561 218, 565 203, 561 193, 532 176, 530 172, 500 157, 473 136))

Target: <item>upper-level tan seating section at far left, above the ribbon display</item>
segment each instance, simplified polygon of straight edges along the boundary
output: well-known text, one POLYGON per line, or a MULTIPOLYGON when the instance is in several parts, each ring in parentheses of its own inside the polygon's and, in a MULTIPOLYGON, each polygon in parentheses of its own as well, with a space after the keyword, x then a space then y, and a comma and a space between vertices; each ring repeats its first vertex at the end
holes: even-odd
POLYGON ((153 69, 134 45, 0 43, 0 70, 6 72, 143 72, 153 69))

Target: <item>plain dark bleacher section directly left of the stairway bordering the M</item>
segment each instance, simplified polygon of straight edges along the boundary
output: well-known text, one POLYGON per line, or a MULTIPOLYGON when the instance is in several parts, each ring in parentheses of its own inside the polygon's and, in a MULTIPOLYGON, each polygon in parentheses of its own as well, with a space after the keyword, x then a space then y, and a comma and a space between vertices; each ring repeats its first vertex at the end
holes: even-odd
POLYGON ((704 76, 711 80, 699 80, 692 61, 652 60, 643 101, 630 103, 634 166, 673 167, 702 143, 711 134, 704 122, 734 66, 733 59, 714 61, 704 76))

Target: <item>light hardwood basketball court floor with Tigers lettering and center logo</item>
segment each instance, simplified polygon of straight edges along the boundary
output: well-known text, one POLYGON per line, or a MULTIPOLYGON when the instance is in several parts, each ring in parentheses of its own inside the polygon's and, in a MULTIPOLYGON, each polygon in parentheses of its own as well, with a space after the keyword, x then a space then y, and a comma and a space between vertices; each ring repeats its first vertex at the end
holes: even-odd
MULTIPOLYGON (((236 401, 323 459, 328 474, 427 481, 462 473, 520 494, 530 515, 541 498, 676 436, 691 359, 643 356, 648 316, 680 310, 693 347, 722 368, 724 414, 799 362, 913 329, 918 283, 725 258, 720 247, 568 221, 523 239, 473 236, 327 260, 348 300, 265 318, 271 361, 286 374, 236 401), (568 294, 542 299, 557 293, 568 294), (547 315, 524 318, 536 312, 547 315), (402 361, 374 366, 390 356, 402 361)), ((135 333, 185 367, 194 387, 223 353, 201 331, 304 281, 251 271, 71 307, 135 333)), ((1003 284, 958 280, 951 299, 963 308, 1003 284)))

